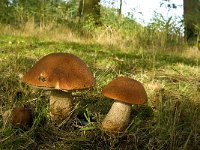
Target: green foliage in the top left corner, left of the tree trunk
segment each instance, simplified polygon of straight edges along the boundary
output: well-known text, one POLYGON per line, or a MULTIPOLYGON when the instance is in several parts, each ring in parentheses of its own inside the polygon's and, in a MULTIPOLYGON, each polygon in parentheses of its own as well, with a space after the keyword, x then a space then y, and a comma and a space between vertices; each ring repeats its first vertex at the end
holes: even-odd
POLYGON ((29 20, 33 20, 40 27, 44 27, 49 23, 70 21, 75 18, 75 9, 77 9, 76 1, 67 3, 63 0, 50 0, 48 2, 45 0, 30 0, 28 2, 13 0, 9 4, 6 4, 6 2, 0 3, 2 5, 0 5, 2 15, 5 15, 2 16, 4 19, 0 21, 19 27, 25 25, 29 20))

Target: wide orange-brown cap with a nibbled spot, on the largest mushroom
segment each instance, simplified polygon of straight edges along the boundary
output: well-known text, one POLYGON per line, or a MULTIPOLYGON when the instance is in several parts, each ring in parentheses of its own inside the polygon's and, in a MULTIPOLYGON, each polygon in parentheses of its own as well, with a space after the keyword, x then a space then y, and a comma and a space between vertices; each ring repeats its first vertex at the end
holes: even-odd
POLYGON ((23 77, 27 84, 61 90, 85 89, 95 84, 87 65, 69 53, 52 53, 41 58, 23 77))

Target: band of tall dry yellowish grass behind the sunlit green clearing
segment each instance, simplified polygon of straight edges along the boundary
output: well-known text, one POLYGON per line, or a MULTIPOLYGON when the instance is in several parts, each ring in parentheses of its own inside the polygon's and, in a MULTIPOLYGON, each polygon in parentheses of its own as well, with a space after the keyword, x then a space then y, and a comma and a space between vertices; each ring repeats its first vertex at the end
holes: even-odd
POLYGON ((151 31, 147 27, 142 27, 138 24, 127 24, 125 28, 123 26, 117 28, 111 25, 100 26, 93 30, 84 28, 84 25, 82 27, 77 26, 75 23, 71 26, 49 23, 47 26, 38 27, 35 25, 34 20, 29 20, 21 29, 16 29, 9 25, 1 25, 2 30, 0 33, 30 36, 56 42, 98 43, 107 47, 115 47, 124 52, 135 49, 159 49, 180 52, 189 49, 182 37, 169 36, 166 32, 151 31), (129 28, 129 26, 133 27, 129 28))

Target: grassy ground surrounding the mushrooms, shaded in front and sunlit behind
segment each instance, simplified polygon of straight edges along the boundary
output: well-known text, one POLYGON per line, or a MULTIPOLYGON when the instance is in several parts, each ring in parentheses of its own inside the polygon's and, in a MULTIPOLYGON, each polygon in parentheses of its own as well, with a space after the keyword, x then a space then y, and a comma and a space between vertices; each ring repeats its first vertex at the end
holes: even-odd
POLYGON ((200 149, 198 51, 134 49, 98 38, 81 39, 71 32, 73 38, 68 39, 46 34, 0 34, 0 149, 200 149), (80 57, 97 81, 93 89, 73 93, 73 113, 62 123, 49 118, 49 92, 21 81, 35 62, 54 52, 80 57), (112 105, 101 89, 117 76, 142 82, 148 105, 133 106, 127 130, 110 135, 100 129, 112 105), (27 103, 35 110, 30 129, 3 124, 6 110, 27 103), (81 124, 80 116, 86 116, 87 126, 81 124))

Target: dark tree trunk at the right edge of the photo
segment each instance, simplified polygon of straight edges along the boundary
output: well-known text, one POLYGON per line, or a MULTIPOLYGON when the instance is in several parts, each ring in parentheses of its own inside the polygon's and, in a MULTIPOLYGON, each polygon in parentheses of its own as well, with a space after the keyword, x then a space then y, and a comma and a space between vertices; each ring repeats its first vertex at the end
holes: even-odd
POLYGON ((198 37, 197 27, 200 25, 200 1, 183 0, 185 38, 188 42, 195 42, 198 37))

